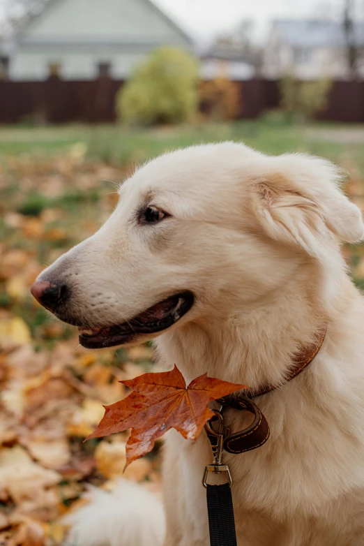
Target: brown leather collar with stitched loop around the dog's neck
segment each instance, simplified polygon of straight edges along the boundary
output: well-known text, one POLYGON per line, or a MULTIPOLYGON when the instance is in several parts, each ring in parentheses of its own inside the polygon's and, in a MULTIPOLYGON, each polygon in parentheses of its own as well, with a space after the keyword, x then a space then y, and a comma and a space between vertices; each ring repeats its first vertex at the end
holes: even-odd
MULTIPOLYGON (((326 337, 327 325, 319 332, 317 342, 303 348, 293 359, 291 369, 285 377, 285 382, 281 385, 267 385, 258 390, 247 390, 245 394, 240 394, 238 397, 234 397, 234 394, 221 398, 218 402, 222 406, 222 411, 225 408, 234 408, 237 410, 249 411, 254 415, 254 420, 249 427, 241 431, 227 434, 224 440, 224 449, 229 453, 243 453, 245 451, 254 450, 266 443, 269 438, 269 425, 261 413, 260 409, 252 401, 252 399, 263 396, 272 390, 282 387, 288 381, 291 381, 296 376, 301 374, 305 368, 314 360, 321 349, 324 339, 326 337)), ((213 438, 209 436, 211 445, 213 445, 213 438)))

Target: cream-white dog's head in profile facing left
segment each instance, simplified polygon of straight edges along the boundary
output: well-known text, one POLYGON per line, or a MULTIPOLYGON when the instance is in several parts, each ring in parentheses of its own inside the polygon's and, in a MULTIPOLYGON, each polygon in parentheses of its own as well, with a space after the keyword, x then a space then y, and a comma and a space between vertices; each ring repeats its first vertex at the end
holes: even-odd
POLYGON ((363 237, 361 212, 338 182, 322 159, 231 142, 166 154, 121 186, 105 225, 40 274, 32 293, 90 348, 224 320, 298 267, 332 264, 334 235, 363 237))

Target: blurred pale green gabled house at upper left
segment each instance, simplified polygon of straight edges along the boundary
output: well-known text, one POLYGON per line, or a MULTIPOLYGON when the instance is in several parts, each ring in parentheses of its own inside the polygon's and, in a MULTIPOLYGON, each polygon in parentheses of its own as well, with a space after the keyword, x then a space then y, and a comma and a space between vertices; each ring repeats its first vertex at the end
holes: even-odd
POLYGON ((151 0, 49 0, 8 44, 8 76, 126 80, 160 45, 192 50, 190 38, 151 0))

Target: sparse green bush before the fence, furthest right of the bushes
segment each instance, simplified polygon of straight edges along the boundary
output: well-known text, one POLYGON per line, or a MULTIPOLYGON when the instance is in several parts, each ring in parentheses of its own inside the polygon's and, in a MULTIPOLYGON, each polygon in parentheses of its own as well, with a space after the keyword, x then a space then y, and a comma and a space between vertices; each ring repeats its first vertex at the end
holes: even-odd
POLYGON ((327 105, 332 82, 323 78, 315 82, 297 80, 293 75, 285 75, 280 81, 282 108, 291 119, 308 120, 324 110, 327 105))

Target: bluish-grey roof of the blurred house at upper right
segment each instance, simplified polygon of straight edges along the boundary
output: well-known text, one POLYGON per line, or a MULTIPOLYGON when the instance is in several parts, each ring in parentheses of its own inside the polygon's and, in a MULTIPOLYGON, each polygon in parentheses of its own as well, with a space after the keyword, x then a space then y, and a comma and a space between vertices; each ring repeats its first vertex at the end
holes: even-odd
MULTIPOLYGON (((329 20, 275 20, 273 28, 280 40, 292 47, 342 47, 346 43, 344 25, 329 20)), ((354 23, 357 45, 364 45, 364 22, 354 23)))

